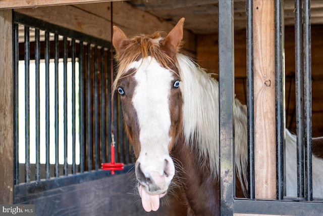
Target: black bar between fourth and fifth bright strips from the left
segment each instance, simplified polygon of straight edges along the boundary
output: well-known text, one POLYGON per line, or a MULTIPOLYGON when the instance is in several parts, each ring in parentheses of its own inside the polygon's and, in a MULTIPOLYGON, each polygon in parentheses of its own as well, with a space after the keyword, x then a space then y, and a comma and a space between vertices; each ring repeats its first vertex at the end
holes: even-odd
POLYGON ((59 161, 59 35, 55 33, 55 177, 60 176, 59 161))

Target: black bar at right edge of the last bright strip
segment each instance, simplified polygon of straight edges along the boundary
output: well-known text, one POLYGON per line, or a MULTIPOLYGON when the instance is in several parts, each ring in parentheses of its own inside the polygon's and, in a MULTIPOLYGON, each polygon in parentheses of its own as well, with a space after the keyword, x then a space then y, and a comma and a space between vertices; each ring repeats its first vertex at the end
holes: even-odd
POLYGON ((80 107, 80 172, 84 172, 84 48, 83 42, 80 41, 79 57, 79 107, 80 107))

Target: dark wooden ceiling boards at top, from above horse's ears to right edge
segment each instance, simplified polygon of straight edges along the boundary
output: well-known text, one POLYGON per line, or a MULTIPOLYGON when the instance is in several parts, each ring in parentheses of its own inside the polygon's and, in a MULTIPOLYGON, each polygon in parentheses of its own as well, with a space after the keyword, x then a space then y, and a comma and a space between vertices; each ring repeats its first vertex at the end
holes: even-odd
MULTIPOLYGON (((174 24, 185 17, 184 28, 195 34, 210 34, 218 31, 217 0, 131 0, 128 3, 174 24)), ((294 0, 285 0, 285 25, 294 25, 294 4, 294 0)), ((234 0, 234 22, 235 30, 245 29, 245 0, 234 0)), ((323 24, 323 0, 311 1, 311 23, 323 24)))

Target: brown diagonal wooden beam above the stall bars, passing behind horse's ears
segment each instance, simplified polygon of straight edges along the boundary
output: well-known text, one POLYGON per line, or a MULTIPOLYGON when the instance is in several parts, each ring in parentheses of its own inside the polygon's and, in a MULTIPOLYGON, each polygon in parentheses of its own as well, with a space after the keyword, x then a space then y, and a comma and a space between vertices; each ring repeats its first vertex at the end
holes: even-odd
MULTIPOLYGON (((110 10, 111 3, 15 9, 16 12, 111 41, 110 10)), ((113 16, 114 25, 122 28, 129 37, 138 33, 153 33, 156 30, 167 32, 174 27, 173 23, 160 20, 149 13, 133 8, 125 2, 113 4, 113 16)), ((190 54, 195 54, 195 35, 185 30, 184 41, 183 49, 190 54)))

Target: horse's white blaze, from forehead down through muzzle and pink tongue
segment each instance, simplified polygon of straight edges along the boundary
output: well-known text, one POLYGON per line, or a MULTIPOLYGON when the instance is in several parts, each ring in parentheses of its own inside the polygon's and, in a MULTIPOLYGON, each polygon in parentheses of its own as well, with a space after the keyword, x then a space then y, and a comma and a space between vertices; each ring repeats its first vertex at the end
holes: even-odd
POLYGON ((141 150, 136 164, 140 164, 143 175, 152 179, 159 188, 151 190, 150 186, 141 185, 139 190, 145 210, 157 210, 157 197, 165 195, 175 173, 168 152, 171 141, 169 96, 173 87, 173 73, 160 67, 151 57, 134 62, 129 68, 137 68, 134 75, 137 85, 132 102, 140 127, 141 150))

